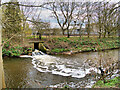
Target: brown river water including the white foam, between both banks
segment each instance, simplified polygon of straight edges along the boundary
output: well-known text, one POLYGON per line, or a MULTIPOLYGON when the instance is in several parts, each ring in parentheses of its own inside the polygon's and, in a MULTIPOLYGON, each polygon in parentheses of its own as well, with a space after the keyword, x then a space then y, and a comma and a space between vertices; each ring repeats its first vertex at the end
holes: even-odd
POLYGON ((75 55, 42 55, 39 59, 4 58, 9 88, 90 88, 99 78, 98 67, 118 61, 118 49, 75 55))

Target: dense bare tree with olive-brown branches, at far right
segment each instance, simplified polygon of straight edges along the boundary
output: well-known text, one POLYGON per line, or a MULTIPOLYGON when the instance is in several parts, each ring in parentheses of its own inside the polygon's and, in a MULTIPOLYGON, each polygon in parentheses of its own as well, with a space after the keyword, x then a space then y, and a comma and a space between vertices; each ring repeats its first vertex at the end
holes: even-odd
POLYGON ((115 9, 117 3, 97 2, 95 6, 95 23, 98 27, 99 38, 103 35, 108 37, 117 31, 118 12, 115 9))

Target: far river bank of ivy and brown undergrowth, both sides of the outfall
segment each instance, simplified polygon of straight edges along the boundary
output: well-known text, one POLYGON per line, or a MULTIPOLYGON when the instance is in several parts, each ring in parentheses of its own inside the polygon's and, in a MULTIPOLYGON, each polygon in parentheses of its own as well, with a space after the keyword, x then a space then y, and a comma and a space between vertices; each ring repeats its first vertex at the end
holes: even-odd
MULTIPOLYGON (((27 39, 26 41, 29 41, 27 39)), ((46 53, 49 55, 72 55, 82 52, 96 52, 104 50, 118 49, 120 42, 118 37, 110 38, 95 38, 95 37, 53 37, 42 38, 43 45, 46 48, 46 53)), ((21 46, 13 46, 9 42, 3 47, 3 57, 19 57, 20 55, 31 55, 34 49, 32 45, 24 43, 21 46)))

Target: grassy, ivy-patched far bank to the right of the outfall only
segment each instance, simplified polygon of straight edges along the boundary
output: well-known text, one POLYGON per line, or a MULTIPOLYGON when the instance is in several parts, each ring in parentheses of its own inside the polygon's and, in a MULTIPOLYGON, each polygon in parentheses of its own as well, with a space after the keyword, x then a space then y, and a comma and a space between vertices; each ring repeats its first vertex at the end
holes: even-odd
POLYGON ((119 48, 120 42, 118 37, 101 39, 97 37, 54 37, 47 38, 44 45, 49 49, 50 54, 61 54, 69 51, 84 52, 119 48))

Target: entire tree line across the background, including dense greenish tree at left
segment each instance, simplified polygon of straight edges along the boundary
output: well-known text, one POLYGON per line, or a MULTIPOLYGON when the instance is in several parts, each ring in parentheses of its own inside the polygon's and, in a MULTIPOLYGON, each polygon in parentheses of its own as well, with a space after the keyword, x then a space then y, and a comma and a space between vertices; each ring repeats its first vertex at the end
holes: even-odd
POLYGON ((97 28, 96 32, 99 38, 118 34, 119 2, 48 1, 36 5, 28 2, 12 2, 11 0, 11 2, 4 3, 2 7, 2 25, 4 35, 7 38, 12 37, 17 32, 21 32, 24 37, 24 30, 32 29, 37 32, 39 39, 41 39, 43 29, 48 31, 51 29, 50 22, 41 18, 43 8, 52 12, 50 18, 57 21, 62 34, 65 35, 66 32, 68 38, 71 32, 76 29, 79 31, 80 37, 82 32, 86 32, 89 37, 93 24, 97 28), (82 30, 83 26, 85 27, 84 31, 82 30))

